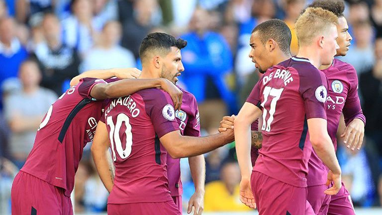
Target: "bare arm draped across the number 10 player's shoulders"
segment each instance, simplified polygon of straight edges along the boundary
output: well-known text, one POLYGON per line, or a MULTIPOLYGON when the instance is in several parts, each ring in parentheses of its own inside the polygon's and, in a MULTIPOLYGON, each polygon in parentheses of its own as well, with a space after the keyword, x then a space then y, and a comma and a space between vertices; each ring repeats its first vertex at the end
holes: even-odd
POLYGON ((117 98, 153 87, 160 87, 168 92, 174 102, 175 109, 181 108, 183 92, 166 78, 122 79, 111 83, 99 83, 92 88, 91 96, 95 99, 117 98))

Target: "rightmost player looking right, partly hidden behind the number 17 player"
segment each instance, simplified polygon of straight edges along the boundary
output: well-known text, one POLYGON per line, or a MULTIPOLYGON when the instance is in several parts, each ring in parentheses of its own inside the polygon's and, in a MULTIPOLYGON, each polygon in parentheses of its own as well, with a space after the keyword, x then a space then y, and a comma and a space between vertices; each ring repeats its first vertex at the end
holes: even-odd
MULTIPOLYGON (((349 50, 351 35, 348 32, 348 24, 343 15, 345 3, 343 0, 317 0, 309 7, 320 7, 337 15, 338 24, 337 43, 339 49, 336 56, 345 56, 349 50)), ((360 149, 366 118, 362 113, 360 99, 358 97, 358 77, 354 67, 338 59, 319 68, 329 80, 328 97, 326 99, 326 114, 328 119, 328 133, 334 148, 337 149, 336 133, 340 123, 340 115, 343 112, 347 125, 342 137, 347 147, 354 150, 360 149)), ((308 201, 314 213, 322 215, 355 215, 350 194, 344 184, 338 194, 325 195, 327 167, 317 158, 315 151, 309 159, 308 201)))

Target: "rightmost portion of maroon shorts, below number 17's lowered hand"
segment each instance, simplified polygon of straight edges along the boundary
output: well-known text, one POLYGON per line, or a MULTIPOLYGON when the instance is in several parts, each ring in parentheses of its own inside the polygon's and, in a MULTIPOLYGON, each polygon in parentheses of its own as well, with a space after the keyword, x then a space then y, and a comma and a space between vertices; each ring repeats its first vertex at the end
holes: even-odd
MULTIPOLYGON (((350 198, 349 192, 346 190, 344 183, 340 191, 333 195, 330 203, 328 215, 355 215, 353 202, 350 198)), ((326 214, 325 214, 326 215, 326 214)))

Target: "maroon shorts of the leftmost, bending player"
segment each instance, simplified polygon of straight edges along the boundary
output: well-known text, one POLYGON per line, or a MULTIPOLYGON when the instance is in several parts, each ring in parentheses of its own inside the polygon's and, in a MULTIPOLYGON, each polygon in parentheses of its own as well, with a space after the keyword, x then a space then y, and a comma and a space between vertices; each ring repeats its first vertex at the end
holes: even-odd
POLYGON ((73 215, 64 189, 20 171, 11 190, 12 215, 73 215))

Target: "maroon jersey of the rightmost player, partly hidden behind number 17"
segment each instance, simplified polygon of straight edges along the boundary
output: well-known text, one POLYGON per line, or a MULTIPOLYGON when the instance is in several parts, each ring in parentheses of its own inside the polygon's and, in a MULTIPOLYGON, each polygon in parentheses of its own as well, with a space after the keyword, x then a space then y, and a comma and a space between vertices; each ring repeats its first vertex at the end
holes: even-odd
MULTIPOLYGON (((329 80, 326 113, 328 133, 334 148, 337 149, 337 130, 341 113, 344 113, 346 124, 354 118, 366 122, 358 97, 358 77, 354 67, 348 63, 334 59, 332 65, 322 72, 329 80)), ((309 159, 308 186, 322 185, 327 180, 327 167, 313 150, 309 159)))

